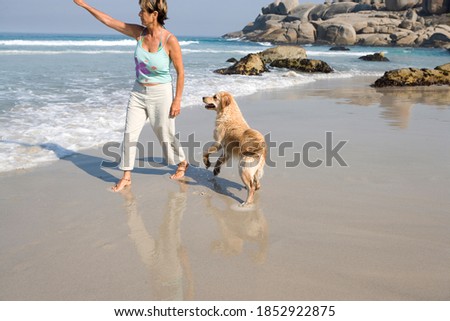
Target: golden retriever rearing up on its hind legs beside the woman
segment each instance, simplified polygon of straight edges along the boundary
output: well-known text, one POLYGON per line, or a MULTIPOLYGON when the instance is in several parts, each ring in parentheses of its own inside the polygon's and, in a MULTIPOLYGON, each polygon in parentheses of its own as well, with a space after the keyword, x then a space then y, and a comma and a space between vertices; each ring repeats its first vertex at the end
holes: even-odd
POLYGON ((242 116, 238 104, 228 92, 218 92, 212 97, 203 97, 205 108, 215 110, 216 125, 214 144, 203 154, 206 168, 211 166, 209 155, 222 150, 222 155, 214 166, 214 176, 220 173, 220 167, 230 157, 239 159, 239 174, 247 188, 247 199, 241 206, 254 202, 255 191, 261 187, 266 161, 266 142, 264 136, 250 126, 242 116))

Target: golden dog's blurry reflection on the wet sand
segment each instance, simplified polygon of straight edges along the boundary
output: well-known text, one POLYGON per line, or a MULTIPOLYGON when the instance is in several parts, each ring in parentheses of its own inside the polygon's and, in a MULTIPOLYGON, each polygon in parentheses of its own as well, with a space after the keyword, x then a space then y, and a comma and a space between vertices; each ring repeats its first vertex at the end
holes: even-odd
POLYGON ((214 206, 211 198, 207 198, 207 208, 216 219, 220 239, 212 242, 212 250, 224 256, 241 255, 245 243, 256 245, 249 256, 255 263, 264 263, 268 250, 269 228, 262 209, 256 202, 252 207, 242 209, 225 199, 226 210, 214 206))

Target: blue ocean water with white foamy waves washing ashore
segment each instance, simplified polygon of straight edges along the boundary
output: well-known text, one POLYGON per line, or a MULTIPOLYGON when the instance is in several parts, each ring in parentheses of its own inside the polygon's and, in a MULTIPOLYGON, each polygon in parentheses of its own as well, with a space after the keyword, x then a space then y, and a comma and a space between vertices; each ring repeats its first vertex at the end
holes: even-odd
MULTIPOLYGON (((201 108, 218 90, 235 96, 298 86, 323 78, 381 76, 386 68, 434 68, 449 62, 442 49, 352 47, 329 51, 307 45, 309 58, 336 72, 304 75, 274 69, 259 77, 223 76, 213 70, 269 48, 239 39, 179 37, 186 83, 183 108, 201 108), (358 57, 383 51, 387 64, 358 57)), ((0 172, 30 168, 120 141, 134 71, 135 41, 120 35, 0 34, 0 172)))

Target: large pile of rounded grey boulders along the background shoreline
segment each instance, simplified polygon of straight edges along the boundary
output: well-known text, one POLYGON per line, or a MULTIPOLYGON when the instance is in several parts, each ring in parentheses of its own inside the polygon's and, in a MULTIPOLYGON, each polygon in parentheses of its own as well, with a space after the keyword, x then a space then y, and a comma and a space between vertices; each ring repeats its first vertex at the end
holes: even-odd
POLYGON ((350 1, 316 5, 278 0, 263 8, 262 14, 242 31, 224 37, 297 45, 444 48, 450 45, 450 15, 439 15, 450 11, 450 0, 369 3, 350 1))

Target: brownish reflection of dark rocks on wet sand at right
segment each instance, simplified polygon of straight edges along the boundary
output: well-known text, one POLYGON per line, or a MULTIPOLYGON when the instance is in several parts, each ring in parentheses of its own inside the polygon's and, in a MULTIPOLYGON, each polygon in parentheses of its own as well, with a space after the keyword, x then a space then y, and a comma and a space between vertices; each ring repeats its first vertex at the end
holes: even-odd
MULTIPOLYGON (((413 107, 418 104, 450 107, 450 87, 395 87, 395 88, 337 88, 334 90, 317 90, 308 93, 311 96, 343 99, 345 104, 358 106, 379 105, 381 117, 389 125, 407 128, 413 107)), ((338 102, 339 103, 339 102, 338 102)))

